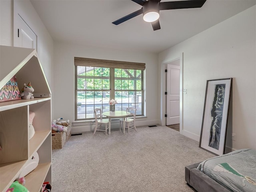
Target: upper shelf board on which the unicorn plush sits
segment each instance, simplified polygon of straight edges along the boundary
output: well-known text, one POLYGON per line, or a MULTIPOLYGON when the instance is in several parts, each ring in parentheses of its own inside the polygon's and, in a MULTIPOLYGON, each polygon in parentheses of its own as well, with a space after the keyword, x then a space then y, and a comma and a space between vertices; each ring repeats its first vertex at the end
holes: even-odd
POLYGON ((38 102, 44 102, 50 99, 51 99, 50 97, 46 97, 46 98, 20 99, 20 100, 14 100, 14 101, 0 102, 0 111, 14 109, 14 108, 18 108, 26 105, 31 105, 38 102))

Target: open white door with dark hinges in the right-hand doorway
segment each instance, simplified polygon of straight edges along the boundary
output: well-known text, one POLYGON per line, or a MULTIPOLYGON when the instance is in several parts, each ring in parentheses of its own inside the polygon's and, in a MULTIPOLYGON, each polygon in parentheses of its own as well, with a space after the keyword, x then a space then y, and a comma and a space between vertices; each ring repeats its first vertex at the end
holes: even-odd
POLYGON ((167 64, 166 75, 166 125, 180 123, 180 60, 167 64))

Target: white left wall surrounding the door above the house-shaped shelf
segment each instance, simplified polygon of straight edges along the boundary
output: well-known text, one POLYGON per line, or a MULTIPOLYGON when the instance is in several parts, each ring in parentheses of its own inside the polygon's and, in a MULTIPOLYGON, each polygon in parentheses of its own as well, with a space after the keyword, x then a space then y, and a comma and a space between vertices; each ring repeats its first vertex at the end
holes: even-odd
POLYGON ((13 46, 12 21, 14 6, 28 26, 30 26, 38 36, 38 58, 52 90, 53 40, 29 0, 0 0, 0 44, 13 46))

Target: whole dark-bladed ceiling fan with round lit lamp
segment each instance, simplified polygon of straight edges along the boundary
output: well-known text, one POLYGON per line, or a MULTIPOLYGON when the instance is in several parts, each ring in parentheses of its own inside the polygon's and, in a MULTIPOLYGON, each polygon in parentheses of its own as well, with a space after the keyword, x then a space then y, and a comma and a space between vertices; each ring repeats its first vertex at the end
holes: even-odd
POLYGON ((206 0, 185 0, 185 1, 170 1, 170 2, 160 2, 161 0, 132 0, 132 1, 140 4, 142 8, 138 11, 135 11, 129 15, 126 15, 112 22, 113 24, 118 25, 140 14, 143 14, 143 20, 146 22, 151 22, 153 30, 155 31, 160 29, 160 23, 158 20, 160 10, 200 8, 206 2, 206 0))

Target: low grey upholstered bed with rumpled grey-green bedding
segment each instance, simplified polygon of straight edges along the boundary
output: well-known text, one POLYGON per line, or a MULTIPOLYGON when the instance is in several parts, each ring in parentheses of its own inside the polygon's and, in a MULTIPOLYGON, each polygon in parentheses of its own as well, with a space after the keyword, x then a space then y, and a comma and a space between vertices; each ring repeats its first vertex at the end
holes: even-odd
POLYGON ((185 167, 198 192, 256 192, 256 150, 241 149, 185 167))

